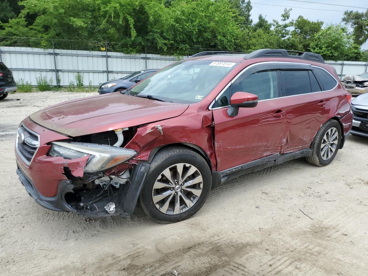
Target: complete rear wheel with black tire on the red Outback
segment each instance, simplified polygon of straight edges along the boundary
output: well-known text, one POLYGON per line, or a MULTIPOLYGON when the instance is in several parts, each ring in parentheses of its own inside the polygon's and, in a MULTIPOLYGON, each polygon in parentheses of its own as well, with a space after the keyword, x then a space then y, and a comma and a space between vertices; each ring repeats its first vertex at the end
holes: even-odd
POLYGON ((329 120, 322 125, 312 142, 312 155, 306 159, 309 163, 323 167, 332 162, 341 143, 341 127, 338 121, 329 120))

